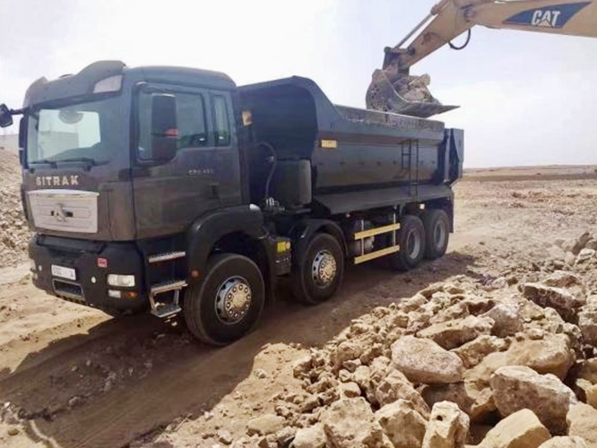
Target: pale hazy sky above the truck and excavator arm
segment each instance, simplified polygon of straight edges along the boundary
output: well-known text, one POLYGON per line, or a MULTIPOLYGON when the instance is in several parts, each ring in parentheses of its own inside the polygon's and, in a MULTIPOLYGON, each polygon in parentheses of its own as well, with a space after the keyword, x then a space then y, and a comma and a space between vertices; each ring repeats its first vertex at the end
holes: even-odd
MULTIPOLYGON (((0 0, 0 103, 20 107, 40 76, 119 59, 218 70, 238 85, 306 76, 334 103, 363 108, 383 48, 433 4, 0 0)), ((411 73, 428 73, 436 98, 461 106, 435 119, 465 130, 467 168, 595 164, 595 56, 597 39, 475 27, 463 51, 442 48, 411 73)))

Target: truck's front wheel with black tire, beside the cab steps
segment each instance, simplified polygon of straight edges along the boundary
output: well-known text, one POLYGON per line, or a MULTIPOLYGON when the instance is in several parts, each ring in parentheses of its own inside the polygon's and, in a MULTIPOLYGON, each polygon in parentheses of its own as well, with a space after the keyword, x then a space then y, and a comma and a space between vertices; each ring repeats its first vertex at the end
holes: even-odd
POLYGON ((186 327, 197 339, 226 345, 254 327, 264 310, 264 277, 238 254, 212 256, 205 278, 185 291, 186 327))

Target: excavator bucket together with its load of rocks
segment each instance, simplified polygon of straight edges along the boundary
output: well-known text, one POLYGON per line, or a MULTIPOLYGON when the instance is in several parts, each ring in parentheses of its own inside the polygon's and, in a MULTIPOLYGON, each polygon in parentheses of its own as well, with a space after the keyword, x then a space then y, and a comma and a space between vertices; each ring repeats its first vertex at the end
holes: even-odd
POLYGON ((390 81, 388 73, 376 70, 367 90, 367 108, 392 112, 406 116, 428 118, 458 108, 444 106, 433 98, 427 89, 428 75, 411 76, 408 74, 393 75, 390 81))

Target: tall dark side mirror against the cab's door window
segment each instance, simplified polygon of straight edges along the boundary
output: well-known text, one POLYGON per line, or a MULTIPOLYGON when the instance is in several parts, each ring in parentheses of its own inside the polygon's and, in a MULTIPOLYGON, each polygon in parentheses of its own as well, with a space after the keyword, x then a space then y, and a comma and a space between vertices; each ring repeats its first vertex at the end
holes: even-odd
POLYGON ((174 159, 177 149, 177 99, 168 93, 154 93, 151 95, 151 159, 174 159))

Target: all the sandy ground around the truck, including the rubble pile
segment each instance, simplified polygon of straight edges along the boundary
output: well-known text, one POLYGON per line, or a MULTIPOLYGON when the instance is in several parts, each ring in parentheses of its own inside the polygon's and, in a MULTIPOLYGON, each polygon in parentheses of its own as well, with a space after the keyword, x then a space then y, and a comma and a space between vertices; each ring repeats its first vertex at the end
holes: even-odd
POLYGON ((460 183, 444 258, 223 349, 0 270, 0 445, 597 447, 597 184, 549 173, 460 183))

